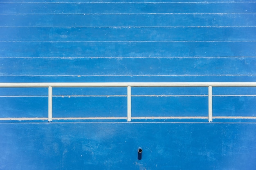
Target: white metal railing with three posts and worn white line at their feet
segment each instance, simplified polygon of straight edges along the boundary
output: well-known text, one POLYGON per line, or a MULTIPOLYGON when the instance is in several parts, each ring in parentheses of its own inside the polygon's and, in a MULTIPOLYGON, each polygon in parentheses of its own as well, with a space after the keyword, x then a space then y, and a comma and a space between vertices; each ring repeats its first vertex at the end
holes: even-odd
MULTIPOLYGON (((195 117, 133 117, 131 116, 131 87, 208 87, 208 121, 213 120, 212 113, 212 87, 256 87, 256 82, 98 82, 98 83, 0 83, 0 87, 48 87, 48 121, 52 122, 52 88, 53 87, 127 87, 127 121, 131 119, 191 119, 195 117)), ((197 117, 205 119, 207 117, 197 117)), ((234 117, 222 117, 223 119, 234 117)), ((256 119, 256 117, 240 117, 243 119, 256 119)), ((31 118, 38 120, 42 118, 31 118)), ((56 118, 59 119, 59 118, 56 118)), ((92 119, 92 118, 70 118, 92 119)), ((97 119, 123 119, 123 117, 97 117, 97 119)), ((26 120, 26 118, 0 118, 0 120, 26 120)))

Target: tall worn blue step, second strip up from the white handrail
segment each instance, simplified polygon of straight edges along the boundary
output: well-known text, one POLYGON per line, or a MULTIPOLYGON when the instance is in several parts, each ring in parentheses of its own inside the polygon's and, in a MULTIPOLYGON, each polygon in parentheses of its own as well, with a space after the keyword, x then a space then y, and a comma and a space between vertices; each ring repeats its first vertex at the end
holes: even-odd
POLYGON ((2 75, 256 75, 254 57, 121 59, 4 57, 0 58, 0 62, 2 75), (10 67, 10 63, 22 66, 10 67))

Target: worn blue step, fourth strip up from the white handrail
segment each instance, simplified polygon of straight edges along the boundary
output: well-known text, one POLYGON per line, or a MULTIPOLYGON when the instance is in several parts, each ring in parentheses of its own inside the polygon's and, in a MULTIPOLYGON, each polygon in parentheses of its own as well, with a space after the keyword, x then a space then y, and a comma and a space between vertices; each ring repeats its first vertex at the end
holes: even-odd
POLYGON ((255 27, 2 27, 0 31, 4 41, 253 41, 256 38, 252 34, 255 27), (106 35, 108 38, 104 38, 106 35))

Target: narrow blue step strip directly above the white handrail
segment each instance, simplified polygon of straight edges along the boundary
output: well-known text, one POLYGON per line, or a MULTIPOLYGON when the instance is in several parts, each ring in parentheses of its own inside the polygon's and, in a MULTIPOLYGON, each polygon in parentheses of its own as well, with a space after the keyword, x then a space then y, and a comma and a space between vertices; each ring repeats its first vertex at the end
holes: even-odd
POLYGON ((255 79, 256 75, 5 75, 0 82, 254 82, 255 79))

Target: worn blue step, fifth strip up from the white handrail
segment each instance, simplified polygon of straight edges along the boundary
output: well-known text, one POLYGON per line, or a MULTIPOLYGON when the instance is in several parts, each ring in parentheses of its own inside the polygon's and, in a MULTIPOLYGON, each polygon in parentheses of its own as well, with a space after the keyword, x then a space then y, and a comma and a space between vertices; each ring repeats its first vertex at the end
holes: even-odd
POLYGON ((254 13, 221 14, 7 14, 1 26, 253 26, 254 13), (63 22, 65 21, 65 22, 63 22), (117 22, 120 21, 120 22, 117 22))

